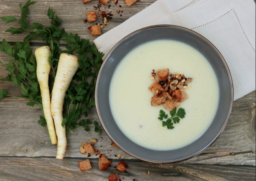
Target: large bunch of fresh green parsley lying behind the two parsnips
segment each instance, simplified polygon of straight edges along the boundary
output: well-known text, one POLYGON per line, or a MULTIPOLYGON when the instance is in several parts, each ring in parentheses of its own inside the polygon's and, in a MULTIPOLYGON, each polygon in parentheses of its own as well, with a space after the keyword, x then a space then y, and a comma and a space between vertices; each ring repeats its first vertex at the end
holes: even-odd
MULTIPOLYGON (((1 81, 9 81, 14 83, 16 87, 21 87, 22 98, 30 100, 27 105, 34 106, 38 104, 43 111, 40 87, 36 78, 36 59, 32 53, 29 41, 41 38, 50 47, 52 53, 49 57, 52 67, 52 75, 49 78, 50 92, 52 92, 60 54, 66 52, 78 55, 80 67, 66 92, 62 126, 66 126, 66 132, 72 132, 78 126, 84 127, 86 131, 90 131, 92 122, 88 119, 88 111, 95 106, 95 82, 102 64, 103 54, 97 51, 95 45, 90 45, 89 40, 82 39, 77 34, 66 33, 64 29, 61 29, 61 21, 57 15, 55 16, 52 8, 49 8, 47 11, 47 16, 51 21, 49 27, 39 23, 33 23, 31 26, 28 26, 28 9, 35 3, 31 0, 28 0, 24 6, 20 3, 20 27, 11 27, 6 31, 12 35, 28 33, 24 38, 24 42, 17 42, 12 47, 5 39, 2 40, 0 51, 7 54, 10 57, 10 61, 8 65, 0 61, 0 66, 9 71, 9 75, 1 79, 1 81), (60 48, 60 41, 66 43, 66 50, 62 51, 60 48), (79 120, 82 115, 85 116, 85 119, 79 120)), ((0 19, 5 23, 18 21, 14 16, 3 16, 0 19)), ((8 96, 18 97, 7 94, 6 90, 0 91, 0 99, 8 96)), ((40 116, 38 124, 45 126, 45 118, 40 116)), ((95 132, 100 133, 100 126, 96 121, 93 123, 93 127, 95 127, 95 132)))

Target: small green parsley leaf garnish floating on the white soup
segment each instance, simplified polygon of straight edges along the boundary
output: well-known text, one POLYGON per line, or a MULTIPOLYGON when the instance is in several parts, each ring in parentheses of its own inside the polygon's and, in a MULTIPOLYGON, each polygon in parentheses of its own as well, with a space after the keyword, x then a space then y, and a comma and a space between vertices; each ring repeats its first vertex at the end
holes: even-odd
POLYGON ((174 108, 170 111, 171 118, 168 118, 168 114, 166 114, 163 110, 159 111, 159 120, 162 121, 162 126, 168 129, 174 129, 173 124, 179 124, 180 119, 185 118, 186 112, 185 109, 179 108, 177 112, 177 108, 174 108), (164 121, 165 120, 165 121, 164 121))

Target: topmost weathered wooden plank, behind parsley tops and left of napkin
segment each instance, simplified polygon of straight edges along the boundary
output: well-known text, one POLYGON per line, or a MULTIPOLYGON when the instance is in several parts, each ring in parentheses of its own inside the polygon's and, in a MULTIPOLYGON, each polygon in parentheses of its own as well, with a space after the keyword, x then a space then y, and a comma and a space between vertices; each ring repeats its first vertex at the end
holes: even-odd
MULTIPOLYGON (((102 33, 105 33, 112 28, 118 26, 123 21, 127 20, 131 16, 137 14, 145 7, 151 5, 156 0, 142 0, 138 1, 133 5, 133 7, 128 7, 123 0, 119 0, 118 5, 112 4, 114 0, 111 0, 107 5, 102 5, 101 10, 106 12, 112 12, 114 14, 113 19, 105 26, 102 33), (110 8, 108 6, 111 5, 110 8), (121 5, 122 7, 119 7, 121 5), (122 17, 118 14, 117 10, 123 11, 122 17)), ((0 16, 16 16, 17 19, 20 16, 19 2, 26 3, 26 0, 21 1, 9 1, 1 0, 0 3, 0 16)), ((67 32, 78 33, 82 38, 89 39, 91 42, 95 39, 95 36, 90 35, 90 31, 87 29, 90 25, 95 23, 84 24, 83 21, 86 19, 86 13, 90 11, 95 11, 94 6, 97 6, 98 1, 94 0, 91 2, 83 4, 83 0, 36 0, 36 4, 31 6, 31 11, 28 17, 29 25, 33 22, 38 22, 46 26, 50 25, 50 21, 47 17, 47 9, 52 7, 56 14, 62 21, 62 27, 65 28, 67 32)), ((97 23, 102 23, 102 18, 99 18, 97 23)), ((5 33, 9 27, 19 27, 18 22, 13 22, 10 24, 5 24, 0 21, 0 37, 6 38, 8 41, 22 41, 25 35, 10 35, 10 33, 5 33)), ((41 41, 37 41, 41 42, 41 41)))

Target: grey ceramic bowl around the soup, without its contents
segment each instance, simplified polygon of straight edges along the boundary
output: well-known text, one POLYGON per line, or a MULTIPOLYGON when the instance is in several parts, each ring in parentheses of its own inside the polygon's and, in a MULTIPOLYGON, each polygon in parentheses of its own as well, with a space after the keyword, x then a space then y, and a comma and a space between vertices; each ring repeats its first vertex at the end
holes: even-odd
POLYGON ((218 49, 202 35, 187 28, 159 25, 131 33, 118 42, 107 54, 96 84, 96 108, 103 129, 119 148, 129 155, 147 162, 179 162, 194 157, 208 148, 223 132, 233 104, 233 84, 228 65, 218 49), (177 150, 156 151, 137 145, 128 139, 116 125, 109 106, 109 86, 116 67, 135 47, 152 40, 177 40, 199 50, 213 67, 220 87, 220 99, 216 116, 210 127, 196 141, 177 150))

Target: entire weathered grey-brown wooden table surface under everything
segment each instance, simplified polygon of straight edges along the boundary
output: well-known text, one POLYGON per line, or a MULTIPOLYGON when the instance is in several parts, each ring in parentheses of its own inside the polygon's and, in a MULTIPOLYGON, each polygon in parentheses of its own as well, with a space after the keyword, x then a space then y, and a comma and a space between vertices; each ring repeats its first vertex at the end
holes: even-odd
MULTIPOLYGON (((113 11, 113 20, 103 29, 103 33, 121 24, 123 21, 151 5, 156 0, 141 0, 133 7, 127 7, 122 0, 113 5, 107 12, 113 11), (122 6, 122 8, 119 7, 122 6), (116 10, 123 10, 123 16, 116 10)), ((19 2, 26 0, 0 0, 0 16, 19 17, 19 2)), ((85 14, 93 11, 96 0, 83 5, 82 0, 38 0, 31 7, 29 22, 49 25, 47 9, 52 7, 62 20, 62 26, 68 32, 78 33, 91 42, 95 38, 88 31, 89 24, 84 24, 85 14)), ((102 9, 103 9, 102 8, 102 9)), ((4 24, 0 21, 0 37, 9 42, 22 41, 25 35, 10 35, 5 30, 16 23, 4 24)), ((34 49, 42 44, 31 43, 34 49)), ((8 57, 0 53, 0 60, 8 63, 8 57)), ((0 78, 7 75, 0 67, 0 78)), ((12 83, 0 82, 0 90, 7 89, 9 94, 20 96, 19 88, 12 83)), ((107 176, 119 173, 124 181, 251 181, 255 180, 255 92, 235 101, 232 115, 220 138, 204 153, 197 157, 175 164, 152 164, 130 157, 121 150, 110 146, 110 139, 102 132, 85 132, 77 128, 69 133, 68 147, 64 160, 56 160, 56 146, 52 145, 45 127, 38 125, 41 111, 39 106, 28 107, 24 99, 9 97, 0 101, 0 181, 48 181, 48 180, 86 180, 105 181, 107 176), (92 155, 92 169, 81 172, 78 161, 87 159, 88 155, 80 153, 79 146, 83 141, 98 139, 95 149, 102 150, 113 159, 110 169, 100 172, 97 157, 92 155), (121 160, 128 163, 127 173, 114 170, 119 160, 115 157, 122 154, 121 160), (147 175, 147 170, 150 175, 147 175)), ((91 111, 92 120, 98 121, 95 109, 91 111)))

